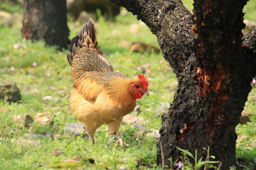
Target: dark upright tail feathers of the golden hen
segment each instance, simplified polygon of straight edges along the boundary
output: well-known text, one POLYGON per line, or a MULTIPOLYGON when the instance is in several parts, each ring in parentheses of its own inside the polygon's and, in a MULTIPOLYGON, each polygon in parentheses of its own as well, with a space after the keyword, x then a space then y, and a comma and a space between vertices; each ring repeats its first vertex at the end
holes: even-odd
POLYGON ((67 53, 67 60, 71 66, 73 57, 82 47, 95 48, 99 54, 103 55, 103 51, 98 45, 97 30, 91 18, 82 26, 82 29, 79 31, 79 33, 77 33, 76 36, 72 38, 70 48, 67 53))

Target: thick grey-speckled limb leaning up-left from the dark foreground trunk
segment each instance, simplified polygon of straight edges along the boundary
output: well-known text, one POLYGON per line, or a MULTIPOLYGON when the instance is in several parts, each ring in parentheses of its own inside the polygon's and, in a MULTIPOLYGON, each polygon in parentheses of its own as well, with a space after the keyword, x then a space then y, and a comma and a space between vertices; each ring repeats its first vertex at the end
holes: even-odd
POLYGON ((137 15, 156 35, 166 61, 174 73, 183 72, 192 54, 192 14, 181 0, 110 0, 137 15))

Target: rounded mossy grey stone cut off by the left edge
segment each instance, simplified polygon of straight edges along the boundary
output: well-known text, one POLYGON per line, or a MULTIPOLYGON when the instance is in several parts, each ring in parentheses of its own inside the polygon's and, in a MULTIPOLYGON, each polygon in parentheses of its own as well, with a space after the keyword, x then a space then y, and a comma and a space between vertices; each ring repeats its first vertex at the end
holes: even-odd
POLYGON ((0 81, 0 99, 3 99, 7 102, 17 102, 21 100, 20 91, 14 81, 0 81))

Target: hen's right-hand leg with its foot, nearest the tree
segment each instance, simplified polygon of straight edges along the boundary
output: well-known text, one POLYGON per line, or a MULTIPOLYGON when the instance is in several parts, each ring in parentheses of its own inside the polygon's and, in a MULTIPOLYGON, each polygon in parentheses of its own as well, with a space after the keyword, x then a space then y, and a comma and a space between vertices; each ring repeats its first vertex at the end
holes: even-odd
MULTIPOLYGON (((119 117, 117 120, 109 122, 109 136, 117 135, 122 120, 123 120, 123 117, 119 117)), ((118 144, 120 144, 121 147, 123 147, 124 145, 130 146, 129 144, 125 143, 120 136, 117 138, 116 141, 117 141, 117 144, 115 144, 115 147, 117 147, 118 144)))

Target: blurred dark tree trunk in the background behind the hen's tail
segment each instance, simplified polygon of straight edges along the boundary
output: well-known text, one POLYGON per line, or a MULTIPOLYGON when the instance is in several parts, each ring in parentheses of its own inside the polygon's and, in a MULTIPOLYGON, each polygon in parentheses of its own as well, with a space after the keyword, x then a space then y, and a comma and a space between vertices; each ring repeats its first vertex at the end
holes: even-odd
POLYGON ((66 48, 69 30, 66 0, 24 0, 22 36, 66 48))

